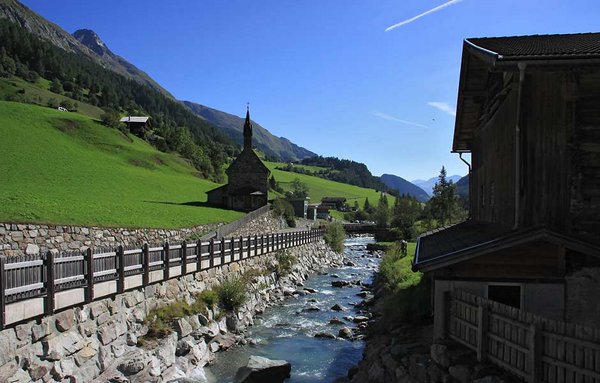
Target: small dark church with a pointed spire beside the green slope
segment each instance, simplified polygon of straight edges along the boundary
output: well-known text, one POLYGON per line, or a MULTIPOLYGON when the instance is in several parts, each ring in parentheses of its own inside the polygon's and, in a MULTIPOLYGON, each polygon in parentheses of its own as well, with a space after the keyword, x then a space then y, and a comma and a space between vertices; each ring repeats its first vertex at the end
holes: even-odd
POLYGON ((209 204, 241 211, 267 204, 271 172, 252 150, 250 109, 246 110, 244 148, 225 172, 228 183, 207 192, 209 204))

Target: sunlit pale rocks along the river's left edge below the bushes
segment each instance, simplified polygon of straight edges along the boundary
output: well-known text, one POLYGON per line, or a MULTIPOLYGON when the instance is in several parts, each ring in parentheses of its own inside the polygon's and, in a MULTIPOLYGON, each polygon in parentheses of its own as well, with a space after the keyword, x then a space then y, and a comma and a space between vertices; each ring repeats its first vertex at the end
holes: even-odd
POLYGON ((204 366, 212 362, 215 353, 253 341, 247 338, 246 330, 256 314, 287 296, 306 294, 301 285, 311 273, 343 263, 342 255, 323 242, 287 251, 298 260, 292 272, 281 278, 274 272, 256 273, 249 286, 249 299, 235 314, 223 314, 215 308, 207 316, 181 318, 175 332, 141 347, 137 339, 145 334, 147 326, 138 323, 141 326, 137 333, 128 335, 127 347, 94 382, 205 382, 204 366))

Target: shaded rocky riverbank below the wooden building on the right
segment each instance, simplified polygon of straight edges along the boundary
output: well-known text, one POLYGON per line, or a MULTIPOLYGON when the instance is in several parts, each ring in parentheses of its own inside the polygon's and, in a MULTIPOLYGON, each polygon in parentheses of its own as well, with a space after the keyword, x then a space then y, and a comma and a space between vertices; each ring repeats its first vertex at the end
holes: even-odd
MULTIPOLYGON (((518 379, 451 341, 432 344, 432 325, 399 323, 386 318, 386 290, 376 278, 370 305, 375 318, 367 329, 360 363, 337 383, 510 383, 518 379)), ((401 304, 400 302, 398 304, 401 304)))

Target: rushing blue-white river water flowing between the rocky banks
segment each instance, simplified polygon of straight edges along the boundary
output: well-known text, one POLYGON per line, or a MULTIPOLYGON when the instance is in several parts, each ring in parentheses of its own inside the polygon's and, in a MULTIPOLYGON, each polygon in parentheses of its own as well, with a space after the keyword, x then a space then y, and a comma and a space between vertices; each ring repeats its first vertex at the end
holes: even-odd
POLYGON ((287 380, 290 383, 325 383, 346 376, 348 369, 361 359, 364 342, 315 338, 314 334, 337 335, 340 328, 355 326, 350 322, 333 325, 329 320, 358 314, 354 305, 361 301, 356 296, 361 287, 335 288, 331 287, 331 281, 339 277, 340 280, 359 279, 370 283, 379 263, 366 251, 366 244, 370 242, 373 238, 346 239, 344 254, 356 266, 326 269, 326 274, 311 276, 304 282, 304 287, 316 289, 316 294, 289 297, 257 316, 249 337, 259 343, 235 346, 217 354, 215 363, 206 368, 209 381, 233 382, 237 369, 246 365, 250 355, 290 362, 292 376, 287 380), (346 311, 332 311, 331 307, 336 303, 344 306, 346 311), (309 306, 317 306, 320 311, 302 311, 309 306))

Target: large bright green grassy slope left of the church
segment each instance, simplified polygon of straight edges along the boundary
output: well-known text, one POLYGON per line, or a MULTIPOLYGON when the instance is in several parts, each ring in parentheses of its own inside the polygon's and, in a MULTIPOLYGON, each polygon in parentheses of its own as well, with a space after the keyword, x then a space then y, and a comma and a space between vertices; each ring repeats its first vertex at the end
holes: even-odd
POLYGON ((88 117, 0 101, 0 221, 177 228, 242 214, 203 206, 182 158, 88 117))

